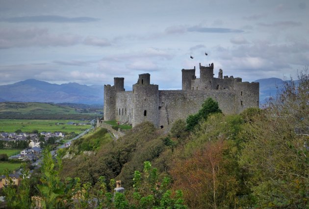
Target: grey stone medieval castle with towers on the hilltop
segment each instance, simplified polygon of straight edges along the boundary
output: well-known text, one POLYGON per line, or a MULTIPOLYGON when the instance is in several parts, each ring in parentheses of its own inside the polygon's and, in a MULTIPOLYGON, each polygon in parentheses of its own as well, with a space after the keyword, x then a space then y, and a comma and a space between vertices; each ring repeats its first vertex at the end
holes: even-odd
POLYGON ((223 76, 220 69, 214 78, 213 63, 201 66, 200 78, 194 69, 182 69, 181 90, 159 90, 150 84, 150 74, 140 74, 132 91, 125 91, 124 79, 114 78, 114 85, 104 85, 104 120, 116 120, 133 127, 150 121, 156 128, 173 124, 198 112, 211 97, 225 114, 240 113, 258 107, 259 83, 242 82, 241 78, 223 76))

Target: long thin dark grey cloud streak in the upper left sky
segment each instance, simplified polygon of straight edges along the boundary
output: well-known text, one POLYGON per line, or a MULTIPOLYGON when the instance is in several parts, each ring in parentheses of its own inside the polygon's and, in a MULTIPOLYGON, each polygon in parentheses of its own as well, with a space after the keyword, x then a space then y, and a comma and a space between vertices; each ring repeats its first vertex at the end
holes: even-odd
POLYGON ((24 17, 13 17, 1 19, 2 22, 10 22, 10 23, 27 23, 27 22, 35 22, 35 23, 89 23, 96 22, 100 19, 91 18, 91 17, 75 17, 68 18, 57 15, 40 15, 40 16, 24 16, 24 17))

